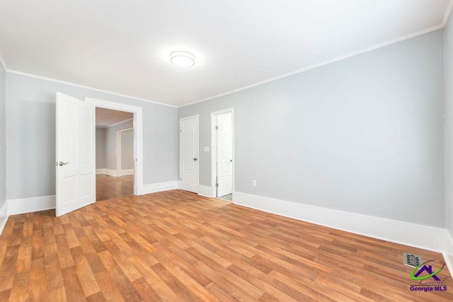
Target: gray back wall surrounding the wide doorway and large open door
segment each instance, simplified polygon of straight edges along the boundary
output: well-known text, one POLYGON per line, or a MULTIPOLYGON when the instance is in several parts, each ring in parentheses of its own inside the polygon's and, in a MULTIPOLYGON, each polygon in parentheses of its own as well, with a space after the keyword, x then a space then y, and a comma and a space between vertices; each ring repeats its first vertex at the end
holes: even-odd
POLYGON ((55 93, 143 109, 144 185, 178 179, 177 109, 6 73, 7 199, 55 194, 55 93))

